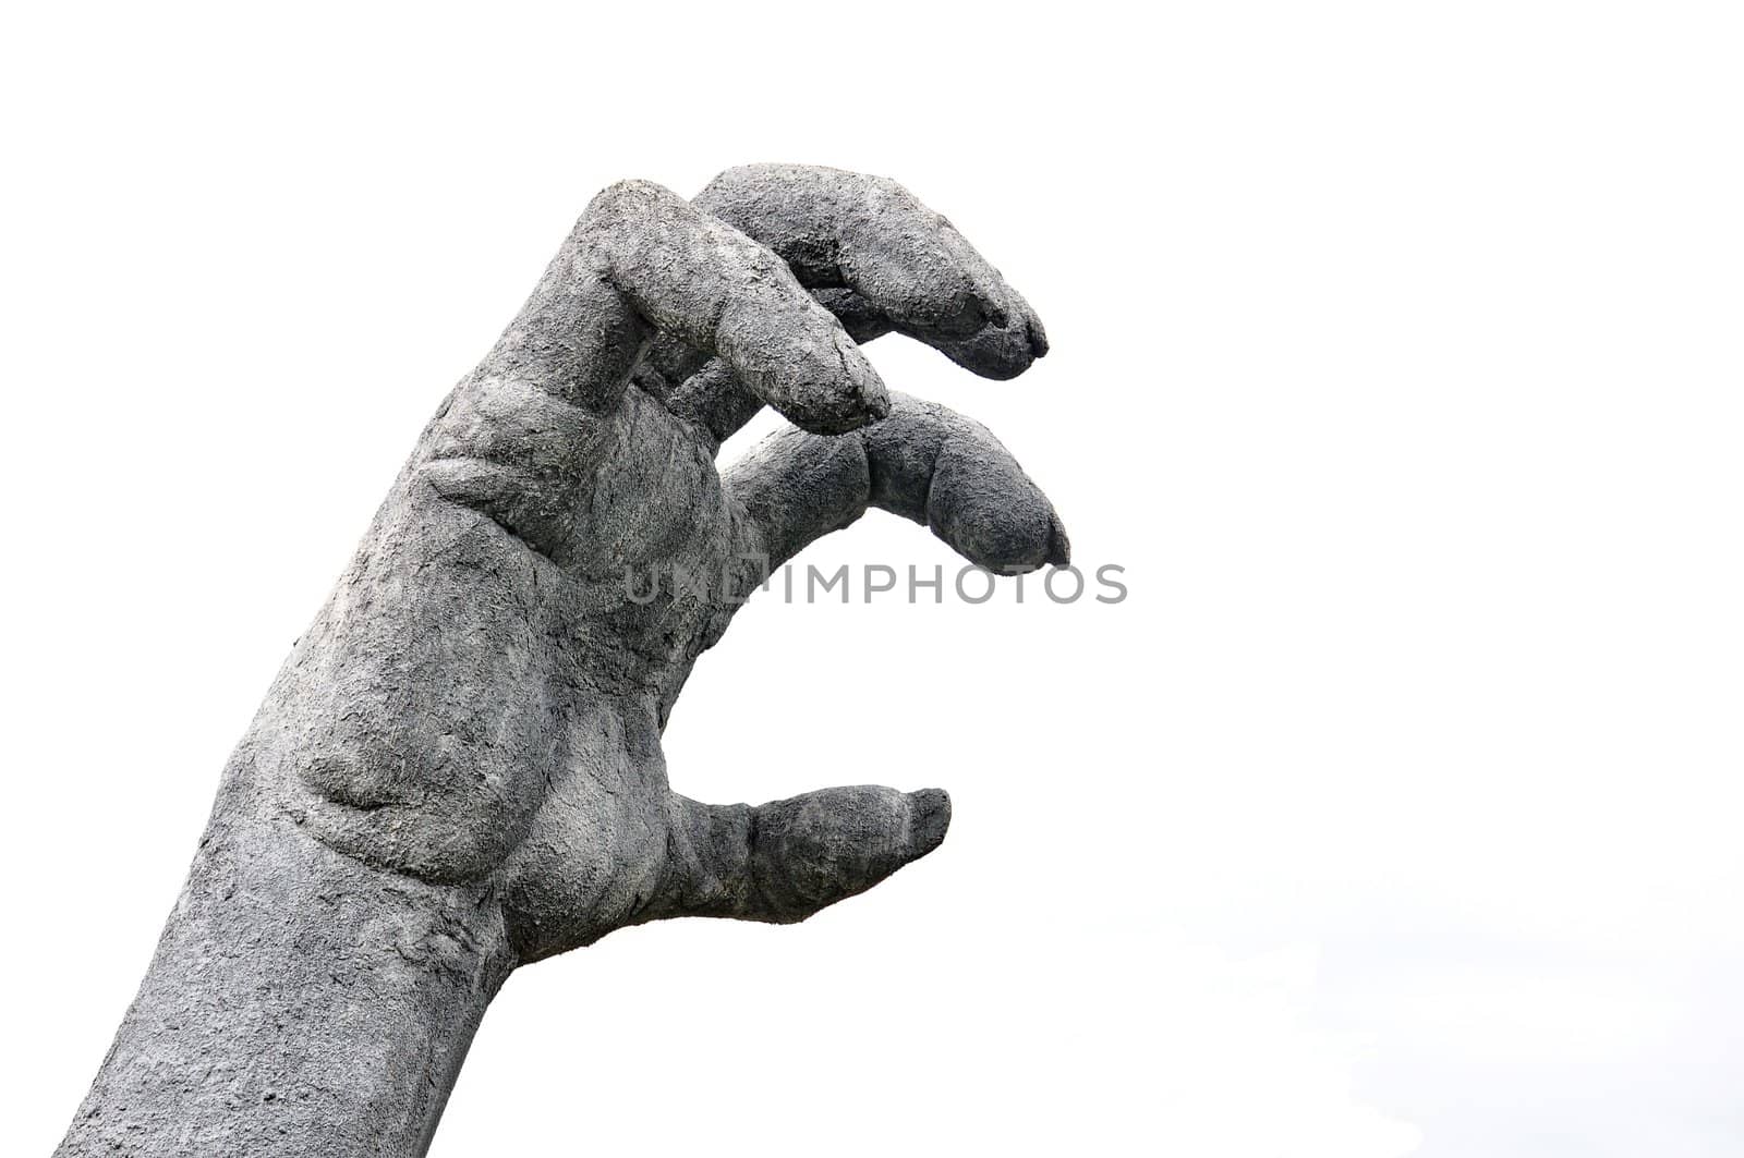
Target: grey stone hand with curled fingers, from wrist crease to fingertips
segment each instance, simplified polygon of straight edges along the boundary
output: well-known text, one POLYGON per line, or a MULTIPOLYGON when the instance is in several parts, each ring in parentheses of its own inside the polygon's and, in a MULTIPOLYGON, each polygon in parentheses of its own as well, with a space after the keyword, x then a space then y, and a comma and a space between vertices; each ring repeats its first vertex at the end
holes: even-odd
POLYGON ((696 204, 602 194, 269 696, 284 811, 382 868, 495 881, 523 961, 668 916, 797 921, 931 851, 938 790, 705 806, 659 745, 766 569, 869 506, 994 570, 1066 562, 991 434, 886 394, 855 340, 889 330, 987 377, 1045 352, 1029 305, 889 181, 757 166, 696 204), (795 427, 717 473, 764 403, 795 427))

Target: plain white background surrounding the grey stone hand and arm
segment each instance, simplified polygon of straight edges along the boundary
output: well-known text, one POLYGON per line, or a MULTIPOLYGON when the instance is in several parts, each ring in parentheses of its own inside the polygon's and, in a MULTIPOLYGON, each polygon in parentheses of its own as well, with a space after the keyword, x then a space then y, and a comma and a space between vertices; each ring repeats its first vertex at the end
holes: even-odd
POLYGON ((1031 296, 1017 382, 874 361, 1130 598, 748 609, 675 785, 937 783, 950 839, 514 977, 438 1156, 1741 1153, 1737 9, 612 7, 5 17, 7 1153, 570 220, 746 160, 1031 296))

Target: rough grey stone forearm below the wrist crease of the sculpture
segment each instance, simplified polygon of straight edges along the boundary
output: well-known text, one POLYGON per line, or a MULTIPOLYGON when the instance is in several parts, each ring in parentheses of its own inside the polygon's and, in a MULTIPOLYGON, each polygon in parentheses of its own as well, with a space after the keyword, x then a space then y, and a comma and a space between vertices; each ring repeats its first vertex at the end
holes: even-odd
POLYGON ((370 868, 232 767, 58 1155, 422 1155, 511 968, 495 900, 370 868))

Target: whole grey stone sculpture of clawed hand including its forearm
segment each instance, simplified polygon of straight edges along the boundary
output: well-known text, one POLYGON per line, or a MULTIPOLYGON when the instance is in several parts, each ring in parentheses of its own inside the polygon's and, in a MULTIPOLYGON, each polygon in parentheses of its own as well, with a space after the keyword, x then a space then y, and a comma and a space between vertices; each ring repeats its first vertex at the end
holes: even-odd
POLYGON ((931 851, 944 792, 710 806, 661 757, 766 569, 869 506, 991 570, 1066 562, 985 429, 886 392, 856 344, 893 330, 991 378, 1046 351, 893 181, 753 166, 691 202, 602 192, 225 767, 58 1153, 422 1155, 514 966, 659 917, 800 921, 931 851), (766 403, 794 426, 717 473, 766 403))

